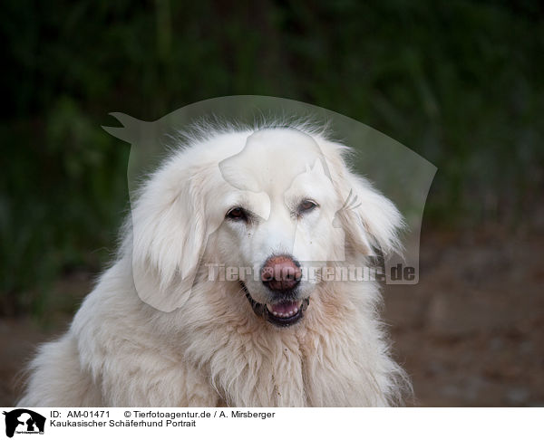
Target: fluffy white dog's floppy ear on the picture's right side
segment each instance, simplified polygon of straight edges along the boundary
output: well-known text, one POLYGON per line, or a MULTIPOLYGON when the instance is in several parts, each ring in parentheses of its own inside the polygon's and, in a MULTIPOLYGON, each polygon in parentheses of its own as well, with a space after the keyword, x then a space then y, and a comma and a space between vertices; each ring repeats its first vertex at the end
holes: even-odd
POLYGON ((346 149, 331 143, 324 148, 335 190, 343 201, 335 219, 345 229, 346 247, 369 256, 402 253, 398 234, 404 227, 403 215, 368 180, 345 166, 342 154, 346 149))

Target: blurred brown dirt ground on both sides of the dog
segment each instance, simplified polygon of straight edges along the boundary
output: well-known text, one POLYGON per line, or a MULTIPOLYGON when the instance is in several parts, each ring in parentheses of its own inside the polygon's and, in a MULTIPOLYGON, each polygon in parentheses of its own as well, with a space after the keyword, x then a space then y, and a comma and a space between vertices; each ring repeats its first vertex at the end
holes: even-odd
MULTIPOLYGON (((544 405, 543 248, 544 234, 423 234, 419 284, 384 292, 394 354, 413 380, 411 405, 544 405)), ((91 284, 78 273, 55 292, 79 301, 91 284)), ((70 315, 48 318, 45 327, 0 319, 0 406, 15 404, 25 361, 70 315)))

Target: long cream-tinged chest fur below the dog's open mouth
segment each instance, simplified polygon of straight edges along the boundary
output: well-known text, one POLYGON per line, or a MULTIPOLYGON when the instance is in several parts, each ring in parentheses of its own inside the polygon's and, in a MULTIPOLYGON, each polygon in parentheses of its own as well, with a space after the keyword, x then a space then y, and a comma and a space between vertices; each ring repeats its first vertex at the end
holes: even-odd
MULTIPOLYGON (((335 301, 341 295, 336 292, 335 301)), ((248 305, 239 304, 244 306, 248 305)), ((221 325, 223 338, 210 340, 199 335, 199 345, 191 344, 185 356, 205 372, 220 400, 228 405, 344 407, 387 403, 389 374, 395 364, 386 355, 376 355, 386 352, 379 325, 369 322, 354 304, 346 302, 338 308, 326 298, 316 298, 304 320, 288 329, 274 328, 253 316, 221 325), (210 345, 214 349, 209 350, 210 345)))

